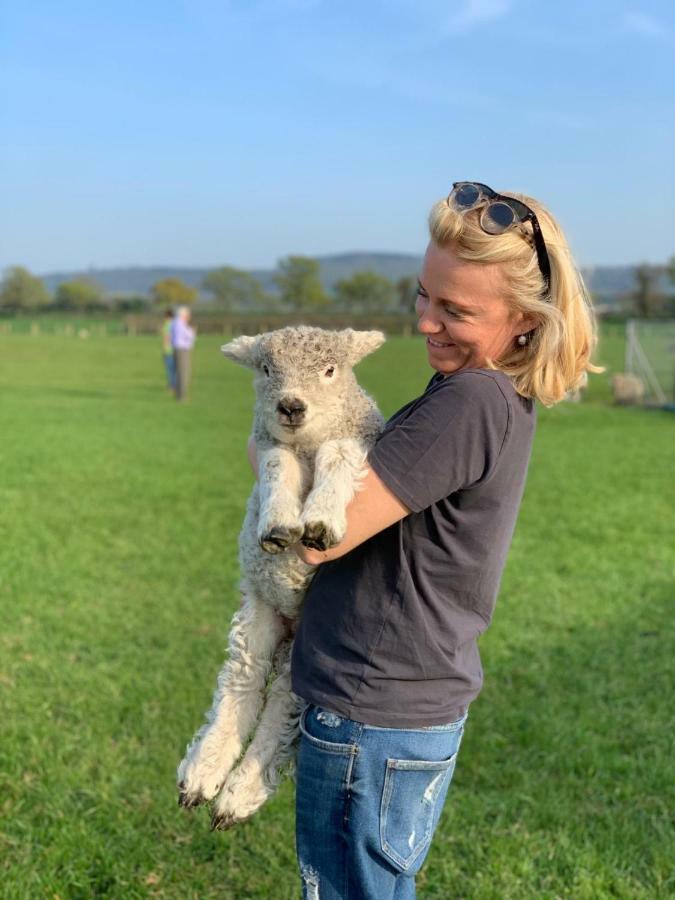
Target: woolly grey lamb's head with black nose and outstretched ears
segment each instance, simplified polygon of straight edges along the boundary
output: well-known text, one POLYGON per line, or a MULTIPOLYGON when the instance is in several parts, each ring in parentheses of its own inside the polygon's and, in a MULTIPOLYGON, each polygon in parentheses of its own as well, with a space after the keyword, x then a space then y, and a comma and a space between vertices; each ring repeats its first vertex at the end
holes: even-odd
POLYGON ((326 331, 300 325, 226 344, 226 356, 255 373, 256 410, 277 440, 315 441, 348 416, 352 371, 384 341, 379 331, 326 331))

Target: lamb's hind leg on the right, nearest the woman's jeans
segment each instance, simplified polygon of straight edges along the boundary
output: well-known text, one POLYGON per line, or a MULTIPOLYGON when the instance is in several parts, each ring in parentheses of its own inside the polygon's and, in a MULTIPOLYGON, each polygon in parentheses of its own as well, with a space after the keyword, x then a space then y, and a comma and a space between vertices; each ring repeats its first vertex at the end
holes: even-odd
POLYGON ((281 771, 294 753, 301 701, 291 692, 290 652, 285 641, 277 652, 277 678, 270 686, 256 733, 244 758, 218 795, 213 827, 226 829, 248 819, 274 794, 281 771))

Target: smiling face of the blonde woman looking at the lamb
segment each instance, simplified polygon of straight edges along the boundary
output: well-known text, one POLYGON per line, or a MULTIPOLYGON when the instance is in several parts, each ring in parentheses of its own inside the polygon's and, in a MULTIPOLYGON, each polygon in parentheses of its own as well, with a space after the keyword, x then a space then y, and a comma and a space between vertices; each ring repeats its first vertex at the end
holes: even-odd
MULTIPOLYGON (((419 277, 417 330, 427 339, 429 364, 450 375, 482 368, 529 331, 503 298, 498 263, 468 263, 432 241, 419 277)), ((530 326, 533 327, 533 326, 530 326)))

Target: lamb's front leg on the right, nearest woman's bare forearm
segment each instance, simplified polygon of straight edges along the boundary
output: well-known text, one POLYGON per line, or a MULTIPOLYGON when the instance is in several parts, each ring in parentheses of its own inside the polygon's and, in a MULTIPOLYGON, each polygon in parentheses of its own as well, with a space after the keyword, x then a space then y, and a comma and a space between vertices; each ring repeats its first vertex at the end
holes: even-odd
POLYGON ((339 544, 347 506, 365 472, 366 448, 356 438, 326 441, 316 454, 314 486, 302 510, 302 543, 315 550, 339 544))

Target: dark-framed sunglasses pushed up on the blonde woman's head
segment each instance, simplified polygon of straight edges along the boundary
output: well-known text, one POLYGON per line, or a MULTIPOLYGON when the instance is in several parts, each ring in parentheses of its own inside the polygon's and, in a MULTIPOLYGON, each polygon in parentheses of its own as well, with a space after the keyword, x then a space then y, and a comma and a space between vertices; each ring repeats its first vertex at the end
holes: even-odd
POLYGON ((548 290, 551 284, 551 263, 539 220, 529 206, 513 197, 498 194, 480 181, 456 181, 448 194, 448 206, 456 212, 468 212, 470 209, 483 206, 479 221, 487 234, 503 234, 514 225, 532 222, 537 262, 548 290))

